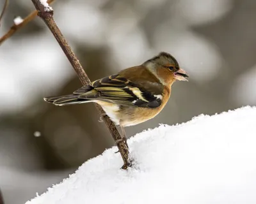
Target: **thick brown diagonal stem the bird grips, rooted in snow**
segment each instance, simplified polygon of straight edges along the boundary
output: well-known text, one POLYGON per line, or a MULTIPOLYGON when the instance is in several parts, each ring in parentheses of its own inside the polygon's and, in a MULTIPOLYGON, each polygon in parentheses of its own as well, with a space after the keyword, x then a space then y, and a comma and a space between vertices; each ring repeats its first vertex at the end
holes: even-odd
MULTIPOLYGON (((38 16, 44 20, 45 24, 49 27, 52 34, 58 41, 60 47, 62 48, 63 52, 68 58, 68 61, 70 61, 70 64, 72 64, 72 67, 75 69, 79 80, 83 85, 90 84, 90 79, 87 77, 84 69, 82 68, 80 62, 78 61, 76 55, 74 54, 73 50, 68 45, 67 41, 65 40, 63 34, 61 33, 60 29, 58 28, 58 25, 56 25, 56 22, 53 19, 53 10, 52 8, 46 3, 46 0, 31 0, 33 4, 35 5, 36 10, 38 10, 38 16)), ((122 166, 122 169, 127 169, 127 166, 131 166, 131 160, 129 159, 129 148, 127 146, 126 142, 117 142, 122 140, 122 137, 118 133, 118 130, 115 127, 115 124, 109 119, 109 117, 106 115, 104 110, 101 108, 100 105, 97 105, 95 103, 95 106, 102 115, 104 122, 106 123, 106 126, 108 127, 113 139, 116 142, 116 145, 118 147, 118 150, 122 156, 122 159, 124 161, 124 165, 122 166)))

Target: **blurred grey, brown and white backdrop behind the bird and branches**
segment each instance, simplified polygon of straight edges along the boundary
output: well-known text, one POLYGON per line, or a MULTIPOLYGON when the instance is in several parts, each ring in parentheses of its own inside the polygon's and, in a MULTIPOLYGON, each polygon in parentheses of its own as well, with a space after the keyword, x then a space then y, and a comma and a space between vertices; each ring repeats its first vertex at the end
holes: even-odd
MULTIPOLYGON (((91 80, 161 51, 188 71, 189 82, 173 85, 164 111, 126 128, 128 136, 201 113, 256 105, 256 1, 56 0, 52 8, 91 80)), ((15 16, 34 9, 31 1, 10 0, 0 36, 15 16)), ((6 204, 43 193, 114 145, 93 104, 44 102, 81 83, 40 18, 0 46, 0 76, 0 189, 6 204)))

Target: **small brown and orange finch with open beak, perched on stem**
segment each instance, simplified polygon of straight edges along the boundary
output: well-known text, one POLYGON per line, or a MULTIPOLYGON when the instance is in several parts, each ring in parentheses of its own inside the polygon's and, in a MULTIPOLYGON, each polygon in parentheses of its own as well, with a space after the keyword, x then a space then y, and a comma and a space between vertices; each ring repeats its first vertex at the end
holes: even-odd
POLYGON ((72 94, 44 100, 56 106, 98 103, 115 125, 121 127, 122 138, 126 138, 124 127, 154 118, 170 98, 173 83, 188 81, 188 77, 175 57, 160 52, 140 66, 95 80, 72 94))

